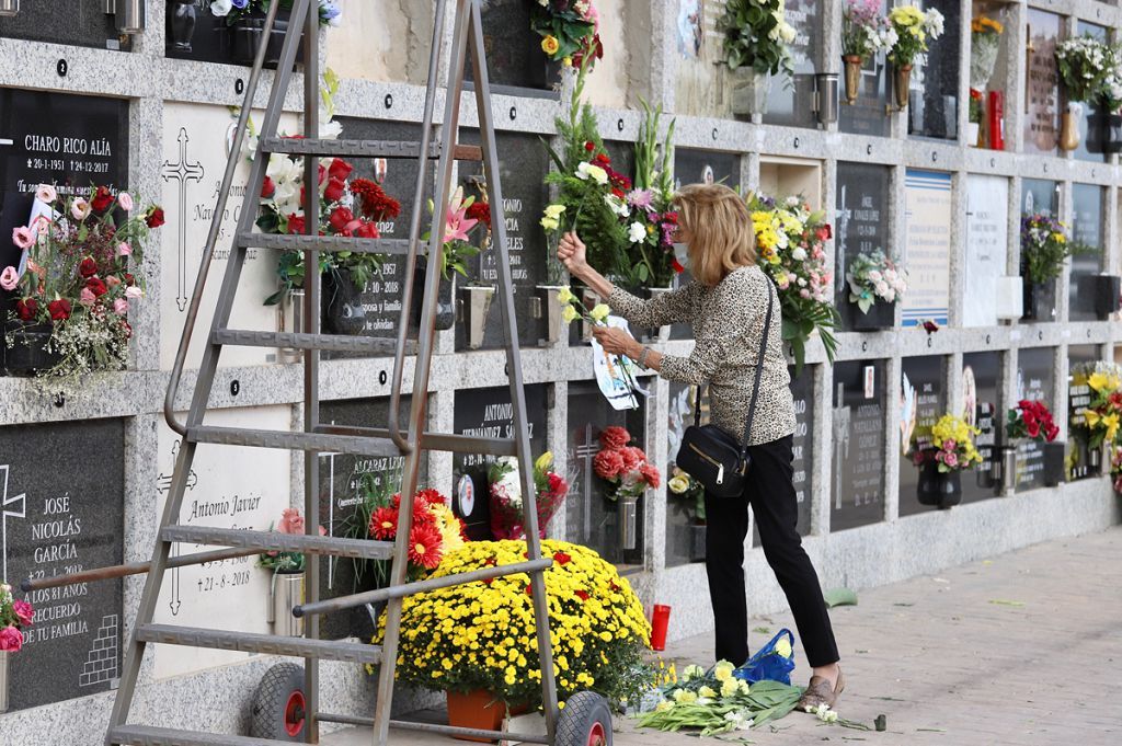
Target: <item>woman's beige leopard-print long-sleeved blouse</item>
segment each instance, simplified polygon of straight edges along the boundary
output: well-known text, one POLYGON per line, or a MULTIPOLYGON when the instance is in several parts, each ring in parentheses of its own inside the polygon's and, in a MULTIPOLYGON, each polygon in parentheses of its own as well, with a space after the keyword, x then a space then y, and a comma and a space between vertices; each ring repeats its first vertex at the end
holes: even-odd
POLYGON ((664 356, 659 375, 684 384, 708 381, 711 422, 739 439, 748 421, 769 293, 774 304, 772 323, 748 439, 749 444, 758 445, 794 432, 794 403, 783 357, 779 294, 762 269, 741 267, 715 287, 695 280, 650 301, 617 287, 608 305, 636 326, 672 323, 693 326, 696 343, 690 357, 664 356))

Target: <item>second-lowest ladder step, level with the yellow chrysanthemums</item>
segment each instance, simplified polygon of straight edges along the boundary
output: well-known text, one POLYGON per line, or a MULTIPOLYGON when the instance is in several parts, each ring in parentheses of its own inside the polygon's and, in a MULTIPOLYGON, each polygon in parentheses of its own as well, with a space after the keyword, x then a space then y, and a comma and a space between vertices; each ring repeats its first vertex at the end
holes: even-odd
POLYGON ((137 627, 137 639, 159 645, 184 645, 217 651, 313 657, 321 661, 342 661, 344 663, 377 664, 381 662, 381 648, 377 645, 304 637, 279 637, 226 629, 196 629, 149 624, 137 627))

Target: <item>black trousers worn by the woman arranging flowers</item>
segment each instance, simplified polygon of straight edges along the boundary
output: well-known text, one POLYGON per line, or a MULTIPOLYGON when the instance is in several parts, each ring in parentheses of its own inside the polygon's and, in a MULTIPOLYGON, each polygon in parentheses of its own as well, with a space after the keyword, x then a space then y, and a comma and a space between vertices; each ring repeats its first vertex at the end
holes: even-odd
POLYGON ((756 518, 767 564, 787 595, 811 666, 838 660, 830 617, 810 558, 795 529, 799 517, 791 481, 792 436, 749 446, 752 471, 744 495, 705 496, 706 573, 717 627, 717 660, 748 658, 748 610, 744 589, 744 540, 748 505, 756 518))

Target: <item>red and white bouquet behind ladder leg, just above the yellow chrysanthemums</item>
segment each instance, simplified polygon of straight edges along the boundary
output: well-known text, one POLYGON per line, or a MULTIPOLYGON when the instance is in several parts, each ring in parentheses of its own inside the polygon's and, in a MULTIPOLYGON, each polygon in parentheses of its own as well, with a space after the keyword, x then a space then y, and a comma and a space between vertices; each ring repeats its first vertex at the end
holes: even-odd
MULTIPOLYGON (((496 540, 524 538, 525 514, 522 501, 522 475, 518 460, 499 457, 487 473, 490 481, 491 536, 496 540)), ((539 534, 545 538, 545 526, 569 494, 569 482, 553 471, 553 453, 546 451, 534 461, 534 488, 537 495, 539 534)))

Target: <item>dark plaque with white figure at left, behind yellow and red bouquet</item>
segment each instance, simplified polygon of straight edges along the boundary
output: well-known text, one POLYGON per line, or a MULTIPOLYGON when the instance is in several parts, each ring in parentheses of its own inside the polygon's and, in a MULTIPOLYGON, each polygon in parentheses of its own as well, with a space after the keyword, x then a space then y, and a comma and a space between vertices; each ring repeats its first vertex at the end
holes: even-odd
POLYGON ((900 444, 900 515, 914 515, 935 509, 919 504, 919 467, 917 453, 931 448, 931 427, 947 412, 945 360, 939 356, 904 358, 900 381, 900 421, 896 442, 900 444))

